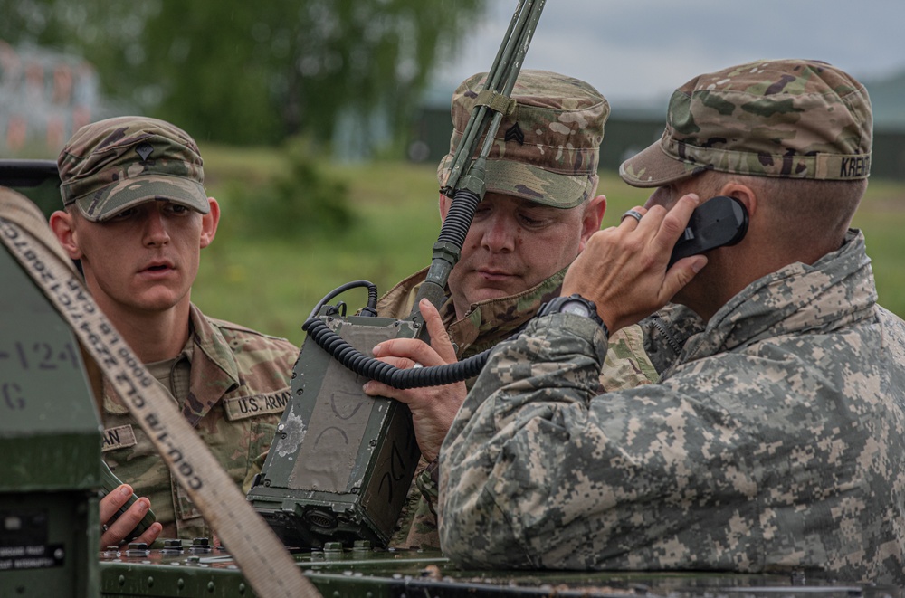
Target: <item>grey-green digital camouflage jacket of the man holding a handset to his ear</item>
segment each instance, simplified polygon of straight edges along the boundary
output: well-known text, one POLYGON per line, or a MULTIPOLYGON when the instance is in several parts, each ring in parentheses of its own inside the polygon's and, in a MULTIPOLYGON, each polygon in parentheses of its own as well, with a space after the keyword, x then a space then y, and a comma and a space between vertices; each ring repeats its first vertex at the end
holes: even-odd
POLYGON ((905 323, 861 233, 750 284, 659 384, 597 395, 605 341, 557 314, 497 347, 441 451, 455 564, 905 582, 905 323))

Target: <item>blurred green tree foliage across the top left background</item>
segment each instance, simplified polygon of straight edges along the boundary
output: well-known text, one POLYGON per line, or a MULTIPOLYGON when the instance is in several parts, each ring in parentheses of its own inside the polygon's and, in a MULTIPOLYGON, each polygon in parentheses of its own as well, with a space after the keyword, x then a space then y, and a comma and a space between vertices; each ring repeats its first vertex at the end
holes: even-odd
MULTIPOLYGON (((0 39, 80 53, 105 91, 198 138, 333 137, 340 116, 397 136, 482 0, 7 0, 0 39)), ((490 63, 490 60, 488 61, 490 63)))

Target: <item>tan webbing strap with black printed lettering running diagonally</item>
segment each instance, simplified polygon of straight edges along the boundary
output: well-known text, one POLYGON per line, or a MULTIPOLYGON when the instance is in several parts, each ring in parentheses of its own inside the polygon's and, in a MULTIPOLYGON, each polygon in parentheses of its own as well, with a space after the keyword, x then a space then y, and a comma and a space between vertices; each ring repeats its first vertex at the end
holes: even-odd
MULTIPOLYGON (((8 210, 5 205, 5 214, 8 210)), ((100 365, 173 475, 229 547, 254 592, 261 598, 319 596, 176 405, 154 384, 78 276, 37 240, 38 235, 5 217, 0 217, 0 239, 100 365)))

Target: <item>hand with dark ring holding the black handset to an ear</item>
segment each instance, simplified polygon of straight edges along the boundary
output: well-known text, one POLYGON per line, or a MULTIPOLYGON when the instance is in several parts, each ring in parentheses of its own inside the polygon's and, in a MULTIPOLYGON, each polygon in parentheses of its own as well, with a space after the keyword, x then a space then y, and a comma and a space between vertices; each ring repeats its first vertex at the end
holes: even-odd
POLYGON ((707 263, 703 255, 676 261, 666 269, 672 247, 700 203, 683 195, 669 211, 661 205, 636 207, 640 220, 623 218, 591 235, 563 280, 563 295, 591 299, 610 333, 662 308, 707 263))

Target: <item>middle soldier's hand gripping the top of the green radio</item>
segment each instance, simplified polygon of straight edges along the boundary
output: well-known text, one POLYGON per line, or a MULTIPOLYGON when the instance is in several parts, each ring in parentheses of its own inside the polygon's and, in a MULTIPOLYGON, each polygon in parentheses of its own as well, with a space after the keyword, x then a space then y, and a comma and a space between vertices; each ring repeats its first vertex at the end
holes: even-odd
MULTIPOLYGON (((374 347, 377 359, 402 369, 414 367, 415 364, 428 367, 458 361, 437 308, 427 299, 422 299, 419 307, 431 335, 431 344, 414 338, 394 338, 374 347)), ((440 453, 446 432, 452 427, 452 420, 468 394, 464 382, 399 390, 371 380, 363 388, 365 394, 370 396, 386 396, 408 405, 412 412, 415 440, 428 461, 436 459, 440 453)))

